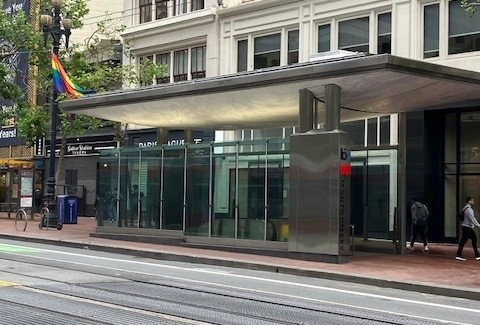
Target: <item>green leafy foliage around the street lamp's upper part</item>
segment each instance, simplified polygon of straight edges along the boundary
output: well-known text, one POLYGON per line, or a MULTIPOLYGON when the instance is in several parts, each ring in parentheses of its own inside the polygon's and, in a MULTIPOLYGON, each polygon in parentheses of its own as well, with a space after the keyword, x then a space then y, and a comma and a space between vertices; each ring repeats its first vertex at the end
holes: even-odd
MULTIPOLYGON (((48 0, 42 0, 41 9, 49 8, 49 3, 48 0)), ((82 27, 82 19, 87 14, 86 0, 67 0, 62 8, 62 17, 68 15, 73 20, 72 34, 75 33, 75 28, 82 27)), ((0 26, 0 39, 12 44, 9 49, 0 49, 0 58, 8 59, 20 50, 27 51, 29 67, 36 70, 35 80, 29 82, 35 83, 37 97, 46 102, 41 106, 28 103, 14 80, 5 78, 12 71, 8 71, 6 65, 0 63, 0 99, 9 99, 15 104, 14 111, 2 112, 0 117, 14 118, 19 136, 27 145, 33 145, 37 138, 46 136, 51 125, 51 114, 48 113, 52 91, 51 38, 45 46, 40 26, 32 26, 22 12, 15 16, 2 12, 0 26)), ((128 44, 122 44, 118 38, 123 29, 119 19, 106 16, 84 43, 70 44, 67 49, 62 40, 59 58, 74 83, 102 93, 121 89, 124 84, 139 85, 140 80, 153 80, 155 76, 165 73, 163 66, 152 62, 142 62, 138 69, 122 65, 118 59, 114 59, 129 56, 128 44)), ((58 100, 65 99, 60 96, 58 100)), ((112 124, 114 129, 121 129, 116 123, 60 112, 58 133, 63 137, 79 136, 88 129, 96 129, 108 123, 112 124)))

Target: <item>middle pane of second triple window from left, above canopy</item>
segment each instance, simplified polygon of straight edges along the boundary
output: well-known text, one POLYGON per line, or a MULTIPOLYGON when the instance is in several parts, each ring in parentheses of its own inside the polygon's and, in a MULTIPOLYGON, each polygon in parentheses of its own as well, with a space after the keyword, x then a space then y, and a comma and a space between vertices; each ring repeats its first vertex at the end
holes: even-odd
POLYGON ((280 65, 281 34, 255 38, 254 69, 275 67, 280 65))

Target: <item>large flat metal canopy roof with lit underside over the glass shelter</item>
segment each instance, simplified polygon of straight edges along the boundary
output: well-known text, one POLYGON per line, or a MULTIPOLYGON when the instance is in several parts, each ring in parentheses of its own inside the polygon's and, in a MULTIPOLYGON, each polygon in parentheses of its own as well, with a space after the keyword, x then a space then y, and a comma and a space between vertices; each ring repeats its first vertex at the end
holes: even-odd
POLYGON ((383 54, 103 93, 60 107, 170 129, 293 126, 298 124, 299 90, 310 90, 321 102, 330 83, 341 87, 342 121, 480 106, 479 73, 383 54))

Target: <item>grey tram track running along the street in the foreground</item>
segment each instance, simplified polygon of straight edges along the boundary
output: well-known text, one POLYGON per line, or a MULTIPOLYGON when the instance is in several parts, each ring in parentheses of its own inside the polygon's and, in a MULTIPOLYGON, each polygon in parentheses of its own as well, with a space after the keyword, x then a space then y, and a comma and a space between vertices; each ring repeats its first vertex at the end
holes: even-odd
MULTIPOLYGON (((51 267, 44 263, 40 265, 51 267)), ((100 270, 88 273, 106 275, 105 272, 101 272, 102 266, 91 267, 100 270)), ((18 276, 14 271, 1 270, 1 272, 18 276)), ((164 279, 161 276, 150 281, 135 280, 133 274, 126 276, 127 274, 120 276, 119 281, 76 284, 35 276, 36 279, 44 280, 48 284, 22 285, 21 288, 47 296, 61 295, 64 299, 84 299, 95 304, 108 304, 108 307, 115 311, 118 311, 118 308, 127 308, 130 311, 178 317, 179 322, 175 324, 183 324, 181 319, 216 325, 439 324, 405 315, 366 311, 354 307, 345 310, 343 306, 335 304, 300 301, 274 294, 259 295, 238 288, 208 287, 164 279)))

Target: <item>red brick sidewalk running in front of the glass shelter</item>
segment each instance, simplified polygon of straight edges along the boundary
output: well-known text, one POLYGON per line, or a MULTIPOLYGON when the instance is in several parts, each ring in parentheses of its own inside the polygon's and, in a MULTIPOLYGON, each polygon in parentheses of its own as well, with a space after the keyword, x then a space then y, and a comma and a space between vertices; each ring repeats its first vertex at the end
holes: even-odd
MULTIPOLYGON (((13 216, 13 214, 12 214, 13 216)), ((414 251, 406 256, 357 252, 345 264, 294 260, 223 250, 159 245, 90 237, 96 220, 78 218, 78 224, 39 229, 38 219, 28 220, 25 232, 15 230, 15 222, 0 213, 0 238, 56 244, 91 250, 124 253, 164 260, 231 266, 278 273, 318 277, 397 288, 423 293, 480 300, 480 262, 475 261, 470 243, 464 250, 467 261, 454 259, 457 246, 430 244, 430 251, 414 251)))

